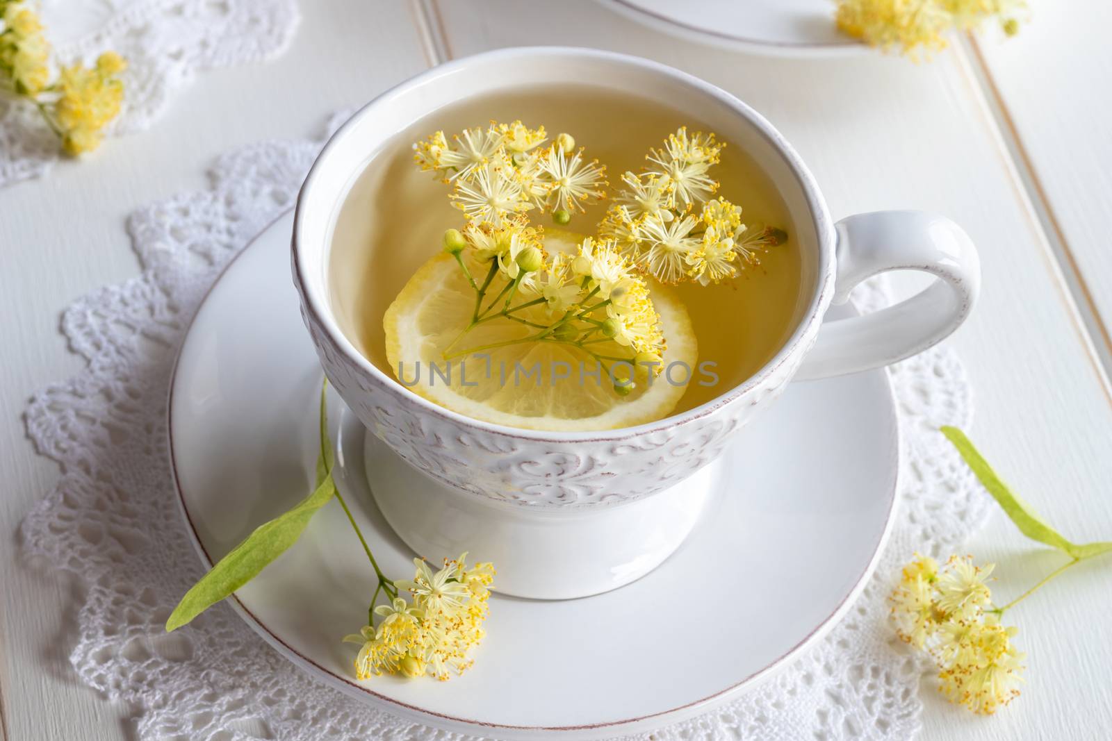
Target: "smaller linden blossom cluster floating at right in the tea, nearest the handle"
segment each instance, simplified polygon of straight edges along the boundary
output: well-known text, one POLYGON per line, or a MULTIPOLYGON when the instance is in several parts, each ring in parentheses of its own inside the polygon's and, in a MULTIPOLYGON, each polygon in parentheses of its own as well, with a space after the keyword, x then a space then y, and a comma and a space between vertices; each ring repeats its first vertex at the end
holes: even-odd
POLYGON ((739 207, 712 198, 718 183, 709 169, 723 147, 713 133, 689 136, 686 127, 669 134, 663 149, 649 151, 639 174, 622 176, 625 187, 598 224, 599 234, 662 283, 706 286, 735 277, 739 266, 757 264, 757 251, 787 234, 751 229, 742 223, 739 207))

